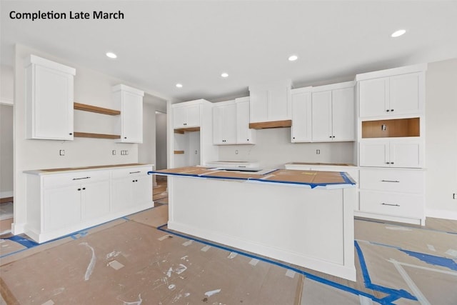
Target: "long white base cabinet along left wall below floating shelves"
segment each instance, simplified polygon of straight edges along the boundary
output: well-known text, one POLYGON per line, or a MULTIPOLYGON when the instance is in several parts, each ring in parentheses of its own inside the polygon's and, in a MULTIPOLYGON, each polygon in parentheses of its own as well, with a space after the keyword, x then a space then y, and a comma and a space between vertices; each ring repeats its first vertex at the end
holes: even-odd
POLYGON ((151 170, 26 171, 25 233, 41 243, 153 207, 151 170))

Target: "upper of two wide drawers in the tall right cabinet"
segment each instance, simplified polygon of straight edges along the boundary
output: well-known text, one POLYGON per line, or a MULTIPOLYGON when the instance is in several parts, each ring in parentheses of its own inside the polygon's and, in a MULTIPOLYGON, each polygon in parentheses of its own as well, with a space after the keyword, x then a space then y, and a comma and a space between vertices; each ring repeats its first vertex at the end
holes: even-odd
POLYGON ((360 189, 422 194, 423 171, 361 169, 360 189))

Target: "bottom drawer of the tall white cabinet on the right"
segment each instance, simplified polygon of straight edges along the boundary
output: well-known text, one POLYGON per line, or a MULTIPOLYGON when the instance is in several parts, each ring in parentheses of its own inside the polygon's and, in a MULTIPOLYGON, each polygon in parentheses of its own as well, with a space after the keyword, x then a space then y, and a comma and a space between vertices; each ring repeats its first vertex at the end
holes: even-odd
POLYGON ((423 196, 416 194, 361 190, 360 211, 421 219, 424 214, 424 201, 423 196))

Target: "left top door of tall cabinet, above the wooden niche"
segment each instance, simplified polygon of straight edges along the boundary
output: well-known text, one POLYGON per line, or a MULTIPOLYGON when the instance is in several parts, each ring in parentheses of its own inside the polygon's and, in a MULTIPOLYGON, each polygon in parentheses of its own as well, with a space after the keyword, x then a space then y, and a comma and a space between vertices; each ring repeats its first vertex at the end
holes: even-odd
MULTIPOLYGON (((358 84, 360 116, 384 116, 388 109, 388 77, 367 79, 358 84)), ((390 113, 390 112, 389 112, 390 113)))

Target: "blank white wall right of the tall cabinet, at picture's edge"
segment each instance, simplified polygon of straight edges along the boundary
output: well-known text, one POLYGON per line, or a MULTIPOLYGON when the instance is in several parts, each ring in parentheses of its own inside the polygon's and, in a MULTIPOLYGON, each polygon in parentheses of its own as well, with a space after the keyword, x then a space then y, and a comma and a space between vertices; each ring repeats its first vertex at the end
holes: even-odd
POLYGON ((457 219, 457 59, 428 64, 426 169, 426 216, 457 219))

